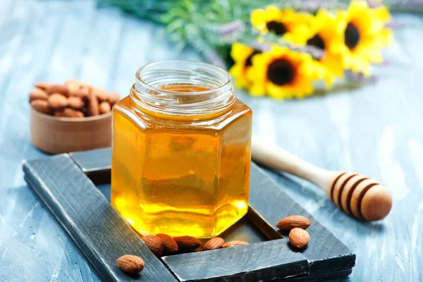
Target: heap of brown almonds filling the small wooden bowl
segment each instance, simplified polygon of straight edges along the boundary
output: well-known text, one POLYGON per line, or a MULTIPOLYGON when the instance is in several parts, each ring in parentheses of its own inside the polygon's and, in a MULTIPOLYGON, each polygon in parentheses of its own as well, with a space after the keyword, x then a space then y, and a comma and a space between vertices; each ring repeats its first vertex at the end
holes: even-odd
POLYGON ((85 82, 68 80, 64 85, 39 82, 30 92, 32 108, 43 114, 68 118, 98 116, 111 111, 119 95, 85 82))

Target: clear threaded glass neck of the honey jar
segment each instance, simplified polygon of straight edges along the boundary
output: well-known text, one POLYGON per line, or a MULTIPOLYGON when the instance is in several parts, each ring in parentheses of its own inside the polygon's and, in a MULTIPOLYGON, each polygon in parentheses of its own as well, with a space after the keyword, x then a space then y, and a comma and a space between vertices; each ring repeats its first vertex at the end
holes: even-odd
POLYGON ((226 114, 236 100, 227 71, 195 61, 163 61, 140 68, 130 97, 149 115, 189 120, 226 114))

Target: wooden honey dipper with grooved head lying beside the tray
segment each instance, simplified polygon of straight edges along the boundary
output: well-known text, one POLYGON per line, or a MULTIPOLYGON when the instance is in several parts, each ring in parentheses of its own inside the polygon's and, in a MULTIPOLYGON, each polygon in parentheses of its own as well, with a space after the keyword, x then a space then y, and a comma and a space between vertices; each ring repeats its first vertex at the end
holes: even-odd
POLYGON ((255 136, 252 137, 251 151, 252 159, 257 163, 316 184, 337 207, 358 219, 377 221, 391 211, 391 194, 372 178, 318 168, 255 136))

